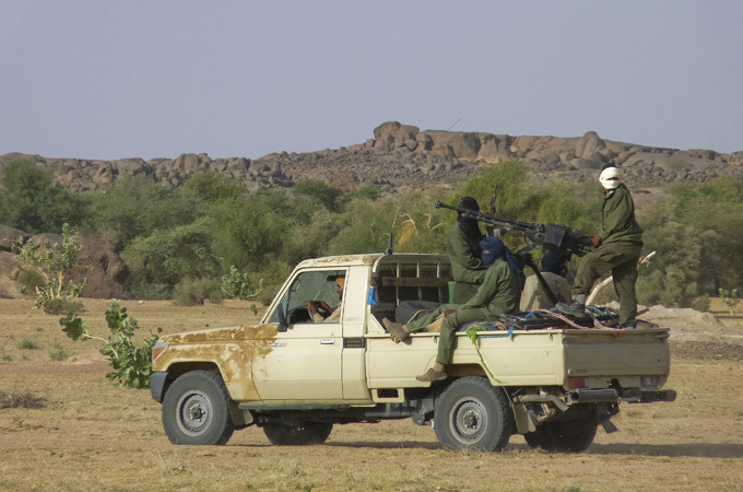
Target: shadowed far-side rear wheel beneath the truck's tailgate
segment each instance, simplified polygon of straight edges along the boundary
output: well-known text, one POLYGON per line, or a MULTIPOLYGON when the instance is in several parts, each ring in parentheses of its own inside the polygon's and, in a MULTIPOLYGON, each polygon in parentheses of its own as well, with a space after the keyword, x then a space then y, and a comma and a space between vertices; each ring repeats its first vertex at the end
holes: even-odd
POLYGON ((523 435, 532 449, 547 453, 581 453, 593 444, 599 423, 593 420, 547 422, 523 435))

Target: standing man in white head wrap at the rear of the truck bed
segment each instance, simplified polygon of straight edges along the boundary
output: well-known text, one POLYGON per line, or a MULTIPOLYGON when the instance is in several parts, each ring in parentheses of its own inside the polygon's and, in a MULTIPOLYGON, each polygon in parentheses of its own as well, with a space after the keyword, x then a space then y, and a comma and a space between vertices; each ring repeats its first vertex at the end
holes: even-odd
POLYGON ((629 190, 620 180, 620 169, 604 166, 599 176, 604 188, 601 208, 601 231, 593 236, 595 248, 578 263, 570 304, 558 303, 565 314, 586 316, 586 298, 595 282, 611 272, 620 297, 620 326, 634 328, 637 323, 637 262, 642 250, 642 230, 635 220, 635 203, 629 190))

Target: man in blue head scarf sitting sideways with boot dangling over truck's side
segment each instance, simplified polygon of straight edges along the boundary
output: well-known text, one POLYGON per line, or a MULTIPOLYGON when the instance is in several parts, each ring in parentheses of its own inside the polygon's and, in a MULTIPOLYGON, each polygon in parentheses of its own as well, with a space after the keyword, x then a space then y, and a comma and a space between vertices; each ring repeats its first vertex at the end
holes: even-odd
POLYGON ((515 312, 519 307, 523 280, 514 255, 497 237, 487 236, 480 244, 483 248, 483 261, 488 268, 483 284, 472 298, 464 304, 443 304, 433 313, 406 325, 382 319, 392 338, 403 341, 410 333, 426 328, 439 315, 446 316, 441 323, 436 364, 425 374, 417 376, 417 380, 434 382, 447 378, 446 365, 451 363, 455 333, 459 325, 477 320, 493 321, 502 314, 515 312))

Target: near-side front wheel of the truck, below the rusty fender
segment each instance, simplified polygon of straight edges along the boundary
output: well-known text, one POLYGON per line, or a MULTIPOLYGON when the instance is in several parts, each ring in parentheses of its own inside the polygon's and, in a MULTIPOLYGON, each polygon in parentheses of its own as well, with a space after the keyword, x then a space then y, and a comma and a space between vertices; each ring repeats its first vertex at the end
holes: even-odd
POLYGON ((229 395, 217 374, 193 371, 177 378, 163 400, 163 427, 173 444, 223 445, 235 425, 229 395))

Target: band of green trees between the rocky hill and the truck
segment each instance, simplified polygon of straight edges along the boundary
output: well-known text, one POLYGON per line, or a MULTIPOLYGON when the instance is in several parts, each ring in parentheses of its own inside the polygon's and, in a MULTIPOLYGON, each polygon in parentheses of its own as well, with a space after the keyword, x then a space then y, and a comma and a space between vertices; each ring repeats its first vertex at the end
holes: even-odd
MULTIPOLYGON (((130 269, 127 290, 139 298, 173 298, 237 281, 235 292, 261 292, 267 302, 306 258, 384 251, 445 253, 456 204, 472 196, 485 206, 498 186, 497 213, 509 219, 570 225, 593 234, 603 195, 595 183, 538 179, 519 161, 487 167, 452 190, 432 187, 384 195, 374 187, 343 192, 321 180, 247 194, 231 178, 200 172, 167 188, 122 176, 95 191, 73 194, 52 169, 20 159, 0 177, 0 223, 27 233, 59 233, 63 224, 110 244, 130 269), (236 280, 235 280, 236 279, 236 280)), ((721 177, 700 186, 676 183, 642 207, 637 220, 645 253, 637 290, 642 304, 704 307, 719 289, 743 285, 743 186, 721 177)), ((504 241, 523 246, 516 232, 504 241)), ((539 260, 540 253, 535 253, 539 260)), ((573 267, 577 259, 573 260, 573 267)))

